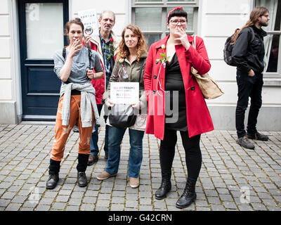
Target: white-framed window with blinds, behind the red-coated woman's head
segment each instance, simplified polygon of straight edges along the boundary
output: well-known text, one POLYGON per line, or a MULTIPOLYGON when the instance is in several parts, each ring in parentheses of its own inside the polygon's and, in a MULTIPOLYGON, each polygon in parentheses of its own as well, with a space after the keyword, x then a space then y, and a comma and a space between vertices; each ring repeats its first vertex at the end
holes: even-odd
POLYGON ((140 27, 148 45, 169 33, 166 18, 172 8, 183 7, 188 13, 188 34, 196 33, 199 0, 132 0, 132 23, 140 27))

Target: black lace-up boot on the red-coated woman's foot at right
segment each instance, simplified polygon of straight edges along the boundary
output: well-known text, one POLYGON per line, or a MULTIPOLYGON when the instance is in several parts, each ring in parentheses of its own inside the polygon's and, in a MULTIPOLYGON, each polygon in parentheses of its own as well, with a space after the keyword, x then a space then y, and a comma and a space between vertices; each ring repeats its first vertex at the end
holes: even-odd
POLYGON ((186 182, 185 188, 183 190, 183 194, 181 195, 181 198, 178 198, 176 202, 177 208, 183 209, 185 207, 188 207, 191 203, 195 201, 196 199, 195 184, 196 181, 188 180, 186 182))

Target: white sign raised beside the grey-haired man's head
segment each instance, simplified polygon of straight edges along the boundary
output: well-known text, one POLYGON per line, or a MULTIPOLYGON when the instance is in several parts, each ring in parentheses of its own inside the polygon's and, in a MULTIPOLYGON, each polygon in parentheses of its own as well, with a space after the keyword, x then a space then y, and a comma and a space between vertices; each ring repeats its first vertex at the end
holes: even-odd
POLYGON ((89 34, 92 37, 98 35, 98 16, 96 14, 96 9, 79 11, 78 17, 84 25, 84 34, 89 34))

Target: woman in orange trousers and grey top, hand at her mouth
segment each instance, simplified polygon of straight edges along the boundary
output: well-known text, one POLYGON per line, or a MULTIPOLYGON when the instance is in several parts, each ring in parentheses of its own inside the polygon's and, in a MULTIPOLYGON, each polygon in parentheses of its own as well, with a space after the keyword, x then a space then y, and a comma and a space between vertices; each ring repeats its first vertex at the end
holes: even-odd
POLYGON ((98 53, 86 49, 81 44, 84 25, 79 18, 67 22, 65 28, 70 45, 63 51, 55 52, 54 56, 54 72, 61 79, 62 85, 55 120, 55 139, 51 150, 49 178, 46 182, 47 189, 53 189, 58 184, 65 143, 75 124, 78 124, 80 136, 77 183, 80 187, 88 184, 85 172, 90 154, 91 133, 93 124, 95 120, 98 123, 99 117, 96 91, 91 84, 91 79, 103 77, 103 67, 100 65, 98 53))

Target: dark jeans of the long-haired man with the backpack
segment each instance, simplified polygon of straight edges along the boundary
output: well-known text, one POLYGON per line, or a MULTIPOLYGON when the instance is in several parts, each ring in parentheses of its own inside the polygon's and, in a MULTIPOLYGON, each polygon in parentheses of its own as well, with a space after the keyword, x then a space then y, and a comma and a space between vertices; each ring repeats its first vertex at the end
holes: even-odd
POLYGON ((247 72, 237 70, 236 76, 238 86, 238 101, 235 113, 235 125, 238 138, 246 134, 244 129, 245 111, 248 107, 249 97, 251 98, 251 106, 249 109, 247 131, 251 134, 256 133, 256 123, 261 108, 261 89, 263 87, 263 75, 256 74, 249 77, 247 72))

